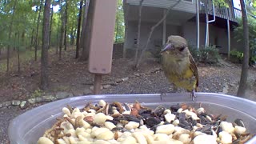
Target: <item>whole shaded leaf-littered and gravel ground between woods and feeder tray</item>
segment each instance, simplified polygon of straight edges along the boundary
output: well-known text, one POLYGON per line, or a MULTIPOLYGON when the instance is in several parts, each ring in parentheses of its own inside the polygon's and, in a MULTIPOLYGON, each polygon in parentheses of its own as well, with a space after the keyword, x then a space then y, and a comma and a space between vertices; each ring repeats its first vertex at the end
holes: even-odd
MULTIPOLYGON (((85 90, 90 90, 93 84, 93 75, 88 73, 86 62, 78 62, 74 53, 63 54, 62 61, 54 54, 50 55, 50 89, 46 94, 56 94, 66 91, 75 96, 83 95, 85 90)), ((0 61, 1 62, 1 61, 0 61)), ((8 76, 0 76, 0 101, 6 102, 12 99, 26 99, 38 90, 40 71, 38 62, 30 62, 22 66, 21 74, 11 73, 8 76)), ((222 61, 220 66, 198 65, 199 90, 202 92, 214 92, 236 94, 241 66, 222 61)), ((147 60, 141 66, 140 71, 132 70, 132 61, 128 59, 114 59, 112 73, 103 77, 103 84, 110 84, 110 88, 103 89, 102 94, 150 94, 169 93, 172 91, 160 65, 154 59, 147 60), (121 78, 128 78, 125 82, 116 85, 121 78)), ((247 98, 256 101, 256 70, 250 68, 250 89, 247 90, 247 98)), ((179 90, 179 92, 182 90, 179 90)), ((34 106, 41 105, 41 103, 34 106)), ((29 106, 30 110, 34 106, 29 106)), ((18 106, 10 106, 0 109, 0 143, 7 143, 7 126, 12 118, 26 110, 20 110, 18 106)))

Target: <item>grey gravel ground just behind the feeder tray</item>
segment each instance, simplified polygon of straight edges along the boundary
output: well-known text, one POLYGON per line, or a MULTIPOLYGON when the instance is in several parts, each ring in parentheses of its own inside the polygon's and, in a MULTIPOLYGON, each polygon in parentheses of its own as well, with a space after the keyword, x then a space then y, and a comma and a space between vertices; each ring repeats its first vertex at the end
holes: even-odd
MULTIPOLYGON (((155 69, 156 67, 160 66, 154 64, 152 69, 155 69)), ((124 78, 127 75, 130 75, 130 78, 125 82, 119 83, 117 86, 103 89, 102 94, 159 94, 173 92, 172 86, 166 80, 162 70, 150 74, 147 74, 146 72, 148 72, 148 69, 146 69, 144 73, 143 71, 140 71, 140 76, 135 76, 135 73, 126 74, 126 72, 122 71, 122 74, 126 75, 119 75, 120 78, 124 78)), ((198 73, 200 77, 199 90, 201 92, 222 93, 224 90, 223 88, 228 86, 227 94, 235 94, 238 89, 238 80, 240 78, 241 70, 240 66, 224 63, 222 66, 198 66, 198 73)), ((255 69, 250 70, 249 80, 256 83, 255 69)), ((184 90, 178 90, 178 92, 182 91, 184 90)), ((256 101, 255 91, 249 91, 250 96, 248 98, 256 101)), ((29 106, 26 110, 30 110, 39 105, 42 105, 42 103, 29 106)), ((8 143, 7 127, 10 120, 19 114, 24 113, 26 110, 20 110, 18 106, 10 106, 9 108, 0 109, 0 143, 8 143)))

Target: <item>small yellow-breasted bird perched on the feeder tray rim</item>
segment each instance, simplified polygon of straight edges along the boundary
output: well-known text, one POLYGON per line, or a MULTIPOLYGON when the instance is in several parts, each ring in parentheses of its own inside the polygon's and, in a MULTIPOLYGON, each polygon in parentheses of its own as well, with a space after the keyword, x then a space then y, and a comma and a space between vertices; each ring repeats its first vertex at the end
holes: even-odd
POLYGON ((185 38, 177 35, 168 37, 161 50, 162 69, 169 82, 190 92, 192 100, 198 91, 198 68, 190 54, 185 38))

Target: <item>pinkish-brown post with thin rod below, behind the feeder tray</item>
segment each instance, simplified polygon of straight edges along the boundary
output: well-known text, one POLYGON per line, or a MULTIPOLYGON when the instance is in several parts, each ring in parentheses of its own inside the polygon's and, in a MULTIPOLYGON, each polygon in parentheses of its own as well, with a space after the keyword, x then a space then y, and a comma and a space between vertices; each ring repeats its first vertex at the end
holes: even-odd
POLYGON ((94 1, 89 71, 95 74, 94 94, 100 94, 102 75, 111 72, 117 0, 94 1))

